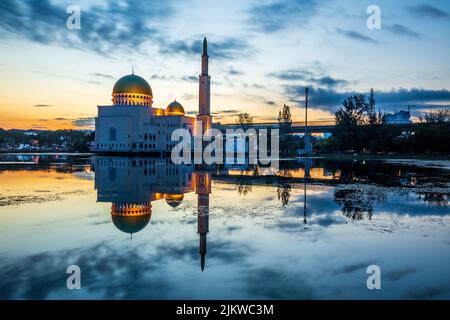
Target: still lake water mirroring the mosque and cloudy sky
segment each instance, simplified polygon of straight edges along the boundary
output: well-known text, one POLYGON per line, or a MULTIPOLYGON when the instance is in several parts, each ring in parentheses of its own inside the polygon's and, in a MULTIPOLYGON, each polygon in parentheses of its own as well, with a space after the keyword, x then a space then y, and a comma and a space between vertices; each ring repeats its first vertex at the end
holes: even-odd
POLYGON ((0 186, 2 299, 450 298, 449 161, 1 155, 0 186))

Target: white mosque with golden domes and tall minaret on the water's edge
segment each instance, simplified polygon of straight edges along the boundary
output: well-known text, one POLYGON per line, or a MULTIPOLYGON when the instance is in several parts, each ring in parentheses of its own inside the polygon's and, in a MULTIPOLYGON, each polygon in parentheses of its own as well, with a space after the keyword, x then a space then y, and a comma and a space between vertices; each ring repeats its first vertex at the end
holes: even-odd
POLYGON ((196 117, 188 117, 178 101, 165 109, 153 107, 153 91, 148 82, 134 74, 120 78, 114 85, 112 105, 98 106, 95 118, 95 143, 98 153, 170 152, 176 142, 172 132, 178 128, 189 130, 191 136, 203 134, 211 128, 210 76, 208 74, 208 43, 203 40, 202 67, 199 75, 199 110, 196 117), (197 128, 201 122, 202 130, 197 128))

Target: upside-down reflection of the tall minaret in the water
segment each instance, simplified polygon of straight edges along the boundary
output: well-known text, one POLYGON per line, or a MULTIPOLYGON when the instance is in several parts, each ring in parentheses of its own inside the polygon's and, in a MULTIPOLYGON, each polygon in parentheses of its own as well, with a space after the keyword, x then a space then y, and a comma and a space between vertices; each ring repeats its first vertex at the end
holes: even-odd
POLYGON ((197 233, 200 235, 200 267, 205 269, 206 234, 209 232, 209 194, 211 193, 211 173, 196 173, 196 192, 198 197, 197 233))

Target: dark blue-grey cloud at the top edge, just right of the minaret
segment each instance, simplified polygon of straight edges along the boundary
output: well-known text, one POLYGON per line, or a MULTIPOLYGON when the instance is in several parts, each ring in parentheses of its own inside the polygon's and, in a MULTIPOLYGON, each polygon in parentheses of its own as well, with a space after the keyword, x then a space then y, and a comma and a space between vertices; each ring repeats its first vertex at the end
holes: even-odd
POLYGON ((277 32, 291 25, 302 25, 316 14, 316 0, 279 0, 258 4, 249 10, 248 24, 263 32, 277 32))

